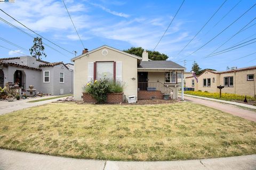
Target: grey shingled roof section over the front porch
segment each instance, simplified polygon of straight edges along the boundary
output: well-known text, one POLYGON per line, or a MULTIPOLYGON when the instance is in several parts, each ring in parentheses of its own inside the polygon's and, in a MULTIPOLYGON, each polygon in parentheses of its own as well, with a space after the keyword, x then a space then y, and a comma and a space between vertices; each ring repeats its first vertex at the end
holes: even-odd
POLYGON ((138 70, 143 69, 175 69, 175 70, 185 70, 186 68, 174 63, 172 61, 142 61, 138 66, 138 70))

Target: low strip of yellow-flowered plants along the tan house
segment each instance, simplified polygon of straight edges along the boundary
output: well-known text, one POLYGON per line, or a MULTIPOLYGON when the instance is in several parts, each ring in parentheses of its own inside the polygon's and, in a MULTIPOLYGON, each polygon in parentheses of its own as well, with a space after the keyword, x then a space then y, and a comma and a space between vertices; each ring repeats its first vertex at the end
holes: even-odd
MULTIPOLYGON (((214 99, 221 99, 221 100, 239 100, 239 101, 244 101, 245 96, 244 95, 236 95, 236 94, 220 94, 218 92, 203 92, 203 91, 184 91, 184 94, 187 95, 194 95, 194 96, 202 96, 202 97, 209 97, 209 98, 214 98, 214 99)), ((255 99, 251 96, 246 96, 247 100, 250 101, 255 101, 255 99)))

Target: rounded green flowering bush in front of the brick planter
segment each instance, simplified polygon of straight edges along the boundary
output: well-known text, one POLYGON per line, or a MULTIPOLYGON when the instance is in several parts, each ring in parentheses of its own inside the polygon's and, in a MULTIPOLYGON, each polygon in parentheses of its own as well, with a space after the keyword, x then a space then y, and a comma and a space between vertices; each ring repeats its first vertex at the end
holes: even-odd
POLYGON ((88 92, 92 97, 97 100, 99 104, 106 103, 107 94, 110 91, 110 85, 107 79, 103 78, 99 81, 90 81, 84 87, 84 91, 88 92))

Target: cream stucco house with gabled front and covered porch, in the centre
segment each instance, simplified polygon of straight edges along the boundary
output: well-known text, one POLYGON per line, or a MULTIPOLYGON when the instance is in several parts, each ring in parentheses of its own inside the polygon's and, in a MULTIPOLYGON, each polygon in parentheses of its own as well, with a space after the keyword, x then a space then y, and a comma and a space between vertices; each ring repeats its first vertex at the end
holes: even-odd
POLYGON ((173 94, 178 97, 177 72, 183 72, 185 67, 172 61, 149 61, 148 53, 142 57, 125 53, 121 50, 101 46, 83 54, 71 61, 75 63, 74 98, 82 100, 82 88, 87 82, 106 77, 125 83, 124 95, 135 95, 137 99, 158 98, 157 92, 173 94))

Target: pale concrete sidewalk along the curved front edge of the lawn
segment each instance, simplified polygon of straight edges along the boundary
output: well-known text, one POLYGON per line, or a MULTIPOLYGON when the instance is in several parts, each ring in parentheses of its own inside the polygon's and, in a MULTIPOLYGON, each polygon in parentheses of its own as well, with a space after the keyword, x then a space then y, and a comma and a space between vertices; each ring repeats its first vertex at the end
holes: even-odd
POLYGON ((197 160, 177 160, 166 162, 117 162, 106 160, 86 160, 30 154, 0 149, 0 169, 1 170, 25 170, 25 169, 87 169, 87 170, 255 170, 256 155, 197 159, 197 160))

